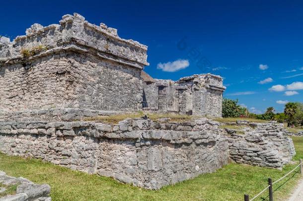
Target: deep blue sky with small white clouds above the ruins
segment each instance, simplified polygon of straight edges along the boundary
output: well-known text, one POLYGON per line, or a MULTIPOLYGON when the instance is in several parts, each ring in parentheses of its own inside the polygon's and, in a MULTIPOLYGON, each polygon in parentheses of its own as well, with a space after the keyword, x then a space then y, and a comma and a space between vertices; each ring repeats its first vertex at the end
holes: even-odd
POLYGON ((59 23, 74 12, 149 46, 152 77, 219 74, 224 96, 256 113, 303 102, 303 1, 7 0, 0 35, 13 39, 33 23, 59 23))

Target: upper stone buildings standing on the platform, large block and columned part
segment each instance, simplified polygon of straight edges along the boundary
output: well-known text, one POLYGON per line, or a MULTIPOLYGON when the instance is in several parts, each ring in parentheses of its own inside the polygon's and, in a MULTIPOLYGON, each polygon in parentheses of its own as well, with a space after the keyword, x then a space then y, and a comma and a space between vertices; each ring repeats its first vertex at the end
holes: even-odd
MULTIPOLYGON (((0 38, 0 110, 72 108, 82 114, 151 110, 222 116, 222 77, 148 79, 147 46, 79 14, 33 24, 13 42, 0 38)), ((71 114, 72 111, 69 111, 71 114)), ((75 113, 75 112, 74 112, 75 113)))

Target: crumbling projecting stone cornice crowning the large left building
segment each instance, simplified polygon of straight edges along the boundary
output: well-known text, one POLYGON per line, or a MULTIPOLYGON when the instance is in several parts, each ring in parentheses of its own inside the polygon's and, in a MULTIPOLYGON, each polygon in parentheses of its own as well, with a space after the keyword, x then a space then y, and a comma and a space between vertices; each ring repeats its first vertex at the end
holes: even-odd
POLYGON ((17 36, 12 42, 5 37, 0 40, 0 66, 11 63, 24 63, 36 58, 74 51, 90 53, 100 58, 143 68, 147 63, 147 46, 137 41, 125 40, 118 36, 117 30, 101 23, 91 24, 77 13, 64 15, 59 24, 43 27, 33 24, 25 36, 17 36), (31 57, 24 57, 22 50, 43 46, 42 51, 31 57))

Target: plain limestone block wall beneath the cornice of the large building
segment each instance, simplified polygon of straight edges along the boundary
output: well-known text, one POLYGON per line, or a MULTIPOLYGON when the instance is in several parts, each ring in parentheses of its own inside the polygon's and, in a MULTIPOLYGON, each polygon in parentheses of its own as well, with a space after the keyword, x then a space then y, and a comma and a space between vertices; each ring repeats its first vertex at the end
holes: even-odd
POLYGON ((0 67, 0 109, 84 108, 137 111, 142 102, 140 69, 61 54, 23 67, 0 67), (127 84, 126 84, 127 83, 127 84))

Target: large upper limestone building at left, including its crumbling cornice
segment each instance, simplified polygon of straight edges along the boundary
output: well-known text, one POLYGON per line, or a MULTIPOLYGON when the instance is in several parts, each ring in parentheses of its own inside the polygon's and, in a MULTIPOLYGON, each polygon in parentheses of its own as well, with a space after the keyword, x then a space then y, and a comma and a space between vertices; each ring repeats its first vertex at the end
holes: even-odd
POLYGON ((13 42, 2 38, 1 111, 142 108, 147 47, 119 38, 116 29, 75 13, 60 25, 34 24, 13 42))

